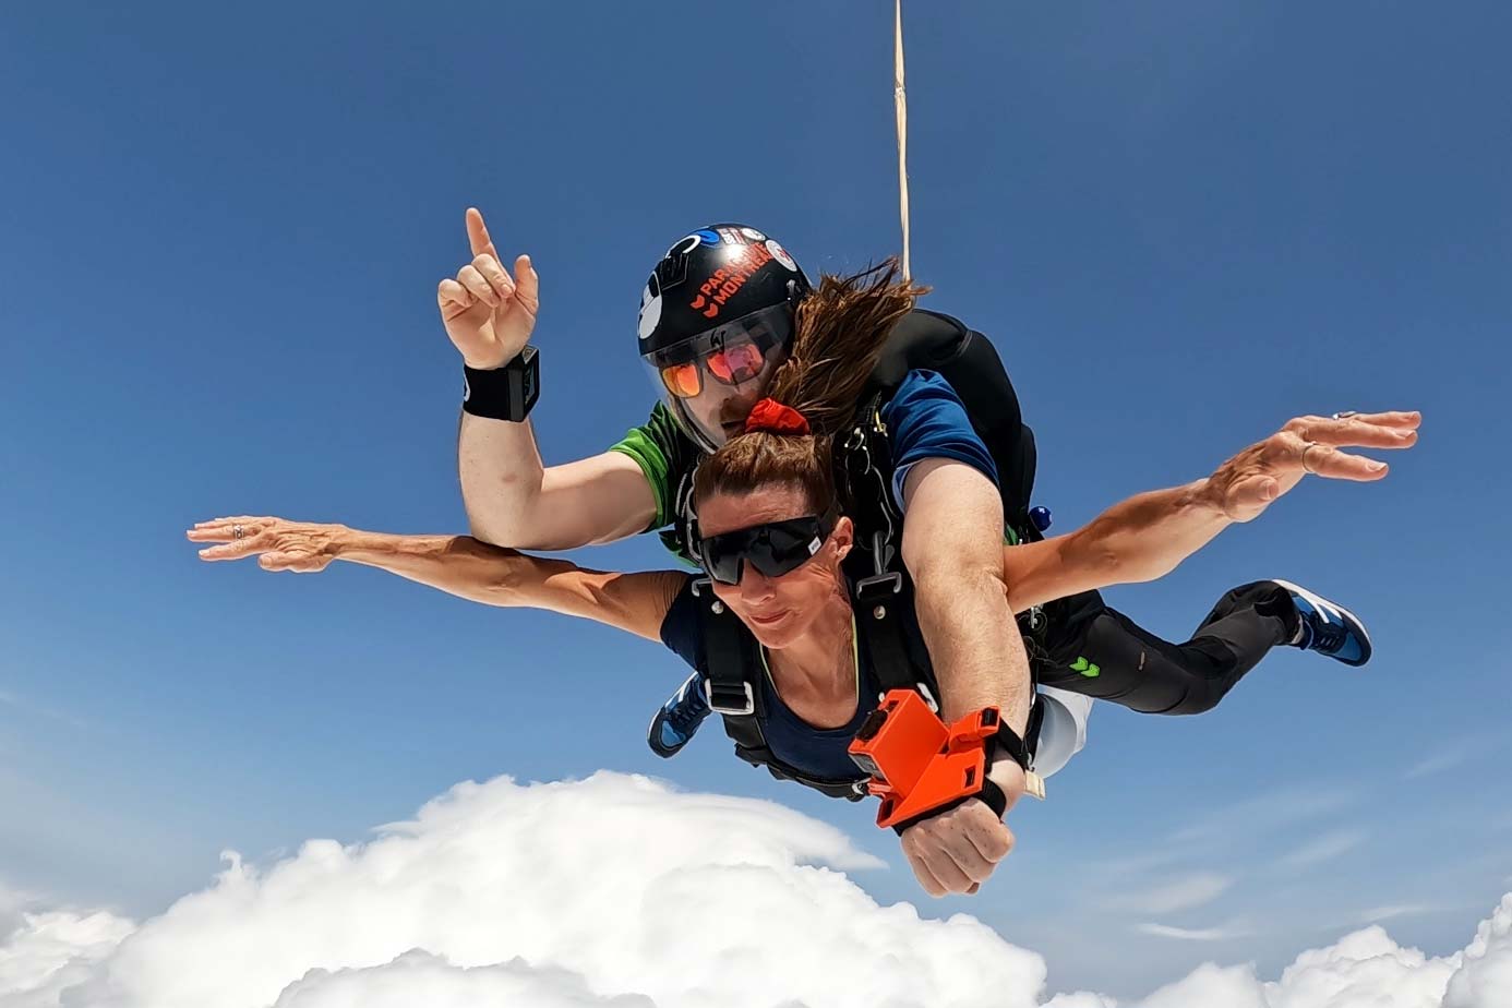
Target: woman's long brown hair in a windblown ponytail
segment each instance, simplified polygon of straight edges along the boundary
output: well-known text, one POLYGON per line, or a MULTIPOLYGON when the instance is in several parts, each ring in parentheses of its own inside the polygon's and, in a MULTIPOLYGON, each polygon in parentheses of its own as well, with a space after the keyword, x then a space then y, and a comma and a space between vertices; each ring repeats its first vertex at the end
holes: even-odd
POLYGON ((928 290, 901 280, 897 258, 851 277, 821 277, 798 302, 792 351, 767 387, 767 397, 803 414, 810 432, 730 438, 699 465, 694 503, 773 484, 801 487, 818 509, 833 502, 833 438, 850 429, 892 326, 928 290))

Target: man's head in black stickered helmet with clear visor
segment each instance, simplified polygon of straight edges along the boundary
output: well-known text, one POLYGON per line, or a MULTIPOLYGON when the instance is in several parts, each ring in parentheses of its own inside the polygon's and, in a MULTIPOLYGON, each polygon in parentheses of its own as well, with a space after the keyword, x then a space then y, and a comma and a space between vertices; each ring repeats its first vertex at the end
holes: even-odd
POLYGON ((641 295, 641 360, 706 452, 739 432, 788 355, 809 290, 788 251, 742 224, 700 228, 656 263, 641 295))

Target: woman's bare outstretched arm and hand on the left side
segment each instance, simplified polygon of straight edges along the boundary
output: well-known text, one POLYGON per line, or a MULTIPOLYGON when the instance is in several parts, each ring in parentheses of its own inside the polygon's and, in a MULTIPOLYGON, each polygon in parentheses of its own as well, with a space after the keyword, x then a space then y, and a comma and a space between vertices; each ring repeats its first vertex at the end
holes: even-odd
POLYGON ((528 556, 464 535, 392 535, 274 517, 216 518, 189 530, 206 561, 257 556, 269 571, 313 573, 348 561, 488 606, 547 609, 650 641, 688 576, 680 571, 596 571, 528 556), (236 536, 236 530, 242 536, 236 536))

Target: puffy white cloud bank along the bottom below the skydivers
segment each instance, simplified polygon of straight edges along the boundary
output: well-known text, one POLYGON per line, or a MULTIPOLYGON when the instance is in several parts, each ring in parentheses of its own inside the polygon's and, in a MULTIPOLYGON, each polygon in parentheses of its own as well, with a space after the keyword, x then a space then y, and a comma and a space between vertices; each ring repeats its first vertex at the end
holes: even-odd
MULTIPOLYGON (((838 830, 640 777, 461 784, 367 843, 311 840, 136 926, 21 911, 0 1008, 1033 1008, 1045 964, 978 920, 878 907, 838 830)), ((1240 925, 1149 934, 1240 937, 1240 925)), ((1092 935, 1095 937, 1095 935, 1092 935)), ((1108 948, 1119 948, 1108 937, 1108 948)), ((1132 1003, 1046 1008, 1506 1008, 1512 895, 1464 952, 1371 926, 1275 982, 1204 966, 1132 1003)))

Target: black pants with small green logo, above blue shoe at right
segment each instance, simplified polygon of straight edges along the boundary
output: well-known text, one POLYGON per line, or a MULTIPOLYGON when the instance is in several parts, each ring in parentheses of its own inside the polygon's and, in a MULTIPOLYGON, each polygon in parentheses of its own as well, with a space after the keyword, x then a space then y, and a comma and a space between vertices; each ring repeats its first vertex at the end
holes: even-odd
POLYGON ((1266 653, 1293 638, 1297 611, 1275 582, 1219 598, 1185 644, 1170 644, 1108 609, 1095 591, 1045 606, 1046 626, 1027 644, 1043 686, 1142 713, 1202 713, 1266 653))

